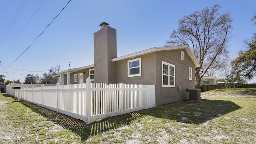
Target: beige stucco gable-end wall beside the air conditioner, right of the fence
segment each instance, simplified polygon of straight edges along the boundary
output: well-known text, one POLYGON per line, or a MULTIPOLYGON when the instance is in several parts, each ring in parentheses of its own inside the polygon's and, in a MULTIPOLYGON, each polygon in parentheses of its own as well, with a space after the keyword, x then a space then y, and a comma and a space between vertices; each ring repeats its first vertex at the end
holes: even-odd
POLYGON ((191 88, 195 88, 195 64, 185 50, 184 60, 180 60, 181 50, 161 51, 156 54, 156 104, 166 104, 186 100, 191 88), (175 87, 162 87, 162 61, 175 65, 175 87), (189 80, 189 67, 192 68, 192 80, 189 80), (178 86, 181 91, 178 92, 178 86))

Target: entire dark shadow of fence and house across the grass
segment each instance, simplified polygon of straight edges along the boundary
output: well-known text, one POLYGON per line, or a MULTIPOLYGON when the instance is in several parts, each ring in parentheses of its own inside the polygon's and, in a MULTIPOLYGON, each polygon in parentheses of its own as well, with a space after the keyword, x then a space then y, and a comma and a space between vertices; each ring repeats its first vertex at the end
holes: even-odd
POLYGON ((241 108, 231 101, 205 99, 202 99, 202 101, 165 104, 155 108, 94 121, 89 125, 86 125, 86 122, 82 120, 41 108, 28 102, 21 103, 31 108, 34 112, 45 116, 49 121, 56 122, 60 126, 72 130, 78 136, 81 136, 81 141, 84 142, 91 136, 130 125, 134 121, 143 120, 146 116, 152 116, 155 120, 167 119, 188 124, 202 124, 241 108))

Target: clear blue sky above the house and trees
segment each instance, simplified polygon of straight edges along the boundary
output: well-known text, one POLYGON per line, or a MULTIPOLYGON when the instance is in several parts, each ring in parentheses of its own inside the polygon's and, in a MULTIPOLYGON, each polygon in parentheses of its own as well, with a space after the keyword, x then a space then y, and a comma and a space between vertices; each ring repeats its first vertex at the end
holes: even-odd
POLYGON ((93 64, 93 33, 100 30, 102 22, 117 30, 118 56, 164 46, 172 31, 177 30, 180 18, 214 4, 222 6, 220 14, 230 12, 234 20, 232 58, 245 50, 242 41, 256 32, 250 22, 256 13, 256 0, 71 0, 32 44, 68 1, 0 0, 0 74, 6 80, 24 82, 27 74, 42 76, 57 64, 62 70, 69 69, 70 62, 71 68, 93 64))

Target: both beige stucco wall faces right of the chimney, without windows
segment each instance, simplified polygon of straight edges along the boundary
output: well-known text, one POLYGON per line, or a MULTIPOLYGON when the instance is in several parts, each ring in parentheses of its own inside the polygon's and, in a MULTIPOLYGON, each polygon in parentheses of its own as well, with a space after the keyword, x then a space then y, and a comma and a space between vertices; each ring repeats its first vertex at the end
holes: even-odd
POLYGON ((195 88, 195 64, 185 50, 184 60, 180 60, 181 50, 153 52, 116 62, 117 83, 156 84, 156 105, 186 100, 186 88, 195 88), (127 76, 127 61, 141 58, 142 75, 127 76), (162 87, 162 61, 175 65, 175 87, 162 87), (189 68, 192 68, 192 80, 189 80, 189 68), (181 91, 178 92, 178 86, 181 91), (179 96, 178 96, 179 95, 179 96))

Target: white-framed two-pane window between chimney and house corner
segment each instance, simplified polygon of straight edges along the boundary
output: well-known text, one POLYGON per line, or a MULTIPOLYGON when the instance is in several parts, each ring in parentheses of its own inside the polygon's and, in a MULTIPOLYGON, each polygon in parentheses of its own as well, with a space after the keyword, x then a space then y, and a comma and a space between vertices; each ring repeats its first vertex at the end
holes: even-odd
POLYGON ((127 61, 128 77, 141 76, 141 58, 127 61))

